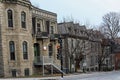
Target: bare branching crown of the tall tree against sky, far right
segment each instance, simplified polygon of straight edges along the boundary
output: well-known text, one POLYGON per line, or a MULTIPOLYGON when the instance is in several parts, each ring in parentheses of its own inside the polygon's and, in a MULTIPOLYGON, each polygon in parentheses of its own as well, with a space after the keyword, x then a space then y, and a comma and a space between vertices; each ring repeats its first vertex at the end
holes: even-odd
POLYGON ((120 14, 110 12, 103 16, 103 23, 101 25, 101 32, 110 39, 118 37, 120 31, 120 14))

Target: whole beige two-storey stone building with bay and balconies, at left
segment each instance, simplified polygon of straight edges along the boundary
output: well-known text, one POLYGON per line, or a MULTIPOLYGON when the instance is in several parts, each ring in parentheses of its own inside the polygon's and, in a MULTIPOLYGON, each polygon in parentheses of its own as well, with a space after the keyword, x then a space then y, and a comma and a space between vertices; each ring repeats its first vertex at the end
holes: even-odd
POLYGON ((29 0, 0 1, 0 76, 29 76, 56 67, 56 45, 56 13, 29 0))

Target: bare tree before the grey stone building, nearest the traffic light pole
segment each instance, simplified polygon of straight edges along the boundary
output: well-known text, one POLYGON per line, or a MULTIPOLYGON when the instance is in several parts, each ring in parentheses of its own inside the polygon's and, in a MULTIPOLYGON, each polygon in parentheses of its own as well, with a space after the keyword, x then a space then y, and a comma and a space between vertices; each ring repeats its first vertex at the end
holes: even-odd
POLYGON ((75 72, 77 72, 79 63, 83 59, 83 43, 83 40, 80 40, 79 38, 74 38, 74 40, 71 41, 71 48, 68 51, 70 57, 70 69, 72 66, 71 62, 75 61, 75 72))

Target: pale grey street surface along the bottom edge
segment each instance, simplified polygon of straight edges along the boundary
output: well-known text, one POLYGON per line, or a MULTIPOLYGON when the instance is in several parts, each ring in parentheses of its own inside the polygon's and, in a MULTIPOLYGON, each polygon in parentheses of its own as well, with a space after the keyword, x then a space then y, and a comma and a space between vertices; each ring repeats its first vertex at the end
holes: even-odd
POLYGON ((0 80, 120 80, 120 71, 71 74, 63 78, 57 76, 42 78, 5 78, 0 80))

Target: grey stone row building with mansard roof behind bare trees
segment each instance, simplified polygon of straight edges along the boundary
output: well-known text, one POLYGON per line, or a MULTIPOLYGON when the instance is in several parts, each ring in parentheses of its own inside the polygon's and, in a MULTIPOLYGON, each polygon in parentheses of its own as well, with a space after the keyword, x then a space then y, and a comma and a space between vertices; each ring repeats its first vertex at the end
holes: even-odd
POLYGON ((74 22, 58 24, 63 39, 64 71, 95 71, 101 52, 101 37, 97 31, 86 29, 74 22), (98 34, 98 35, 97 35, 98 34))

